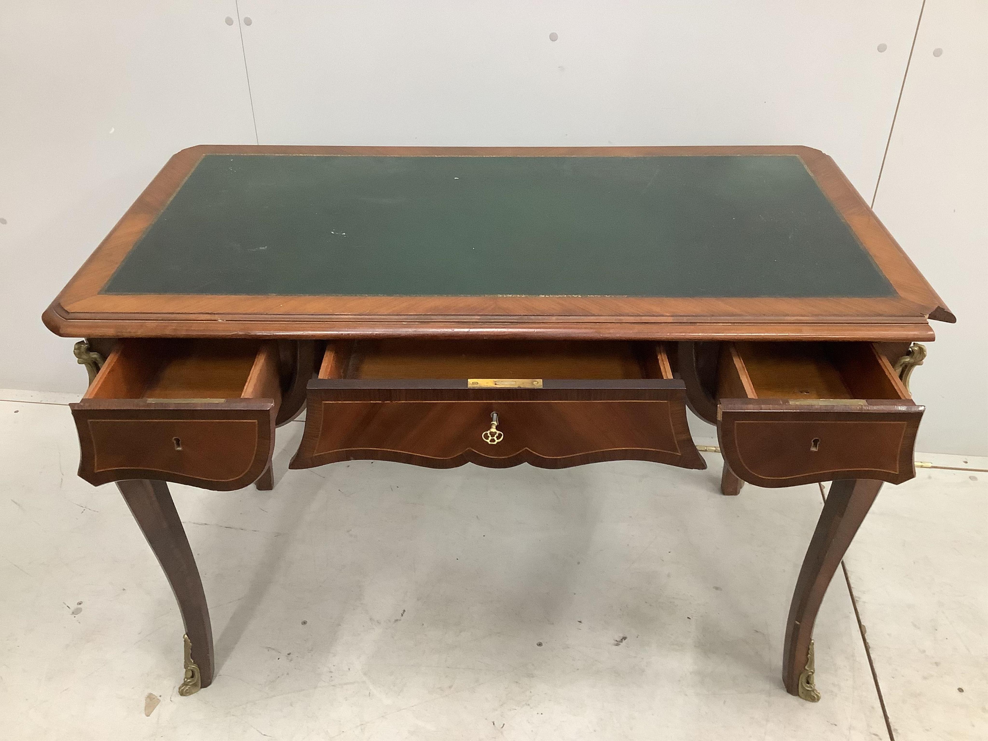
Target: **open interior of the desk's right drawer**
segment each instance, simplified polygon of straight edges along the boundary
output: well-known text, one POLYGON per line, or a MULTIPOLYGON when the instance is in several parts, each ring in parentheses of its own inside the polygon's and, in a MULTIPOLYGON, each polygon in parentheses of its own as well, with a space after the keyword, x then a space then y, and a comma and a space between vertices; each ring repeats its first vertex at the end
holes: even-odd
POLYGON ((724 343, 718 396, 908 399, 888 360, 866 342, 724 343))

